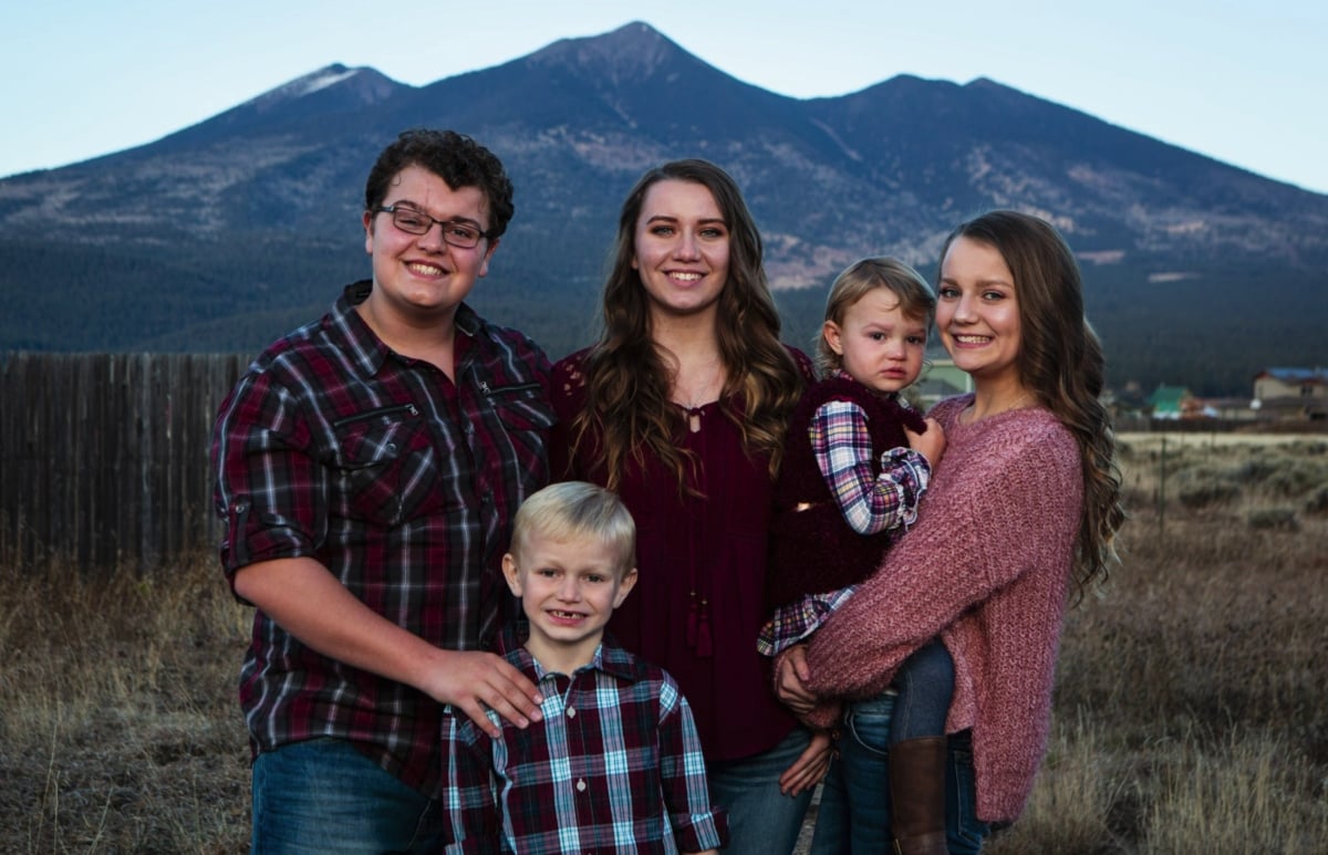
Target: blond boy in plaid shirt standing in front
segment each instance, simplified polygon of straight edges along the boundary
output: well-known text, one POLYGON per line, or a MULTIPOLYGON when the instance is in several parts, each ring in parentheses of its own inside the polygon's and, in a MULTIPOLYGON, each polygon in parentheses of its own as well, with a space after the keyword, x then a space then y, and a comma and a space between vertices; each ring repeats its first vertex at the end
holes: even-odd
POLYGON ((518 510, 503 575, 525 621, 499 653, 534 681, 543 721, 490 712, 499 738, 444 716, 448 852, 713 851, 728 842, 710 805, 691 708, 673 678, 606 635, 636 584, 636 524, 612 493, 551 485, 518 510))

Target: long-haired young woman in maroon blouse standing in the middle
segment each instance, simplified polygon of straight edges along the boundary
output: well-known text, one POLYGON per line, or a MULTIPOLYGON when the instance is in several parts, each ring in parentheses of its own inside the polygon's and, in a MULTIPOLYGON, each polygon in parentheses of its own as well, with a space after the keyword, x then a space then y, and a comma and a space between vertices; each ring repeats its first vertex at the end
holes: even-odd
POLYGON ((726 852, 790 852, 829 738, 774 698, 756 649, 773 475, 811 366, 780 343, 761 236, 705 161, 649 170, 619 219, 603 332, 554 366, 554 477, 618 491, 640 576, 610 628, 696 713, 726 852))

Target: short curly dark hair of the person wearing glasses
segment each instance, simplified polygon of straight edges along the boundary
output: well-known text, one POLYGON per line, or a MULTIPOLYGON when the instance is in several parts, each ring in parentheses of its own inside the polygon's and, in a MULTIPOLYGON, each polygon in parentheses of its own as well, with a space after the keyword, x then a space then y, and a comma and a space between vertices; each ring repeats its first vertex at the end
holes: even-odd
POLYGON ((414 127, 404 130, 382 150, 364 185, 364 210, 372 211, 388 198, 392 179, 401 170, 422 166, 448 182, 453 190, 478 187, 489 200, 489 227, 485 234, 497 240, 511 222, 511 179, 493 151, 454 130, 414 127))

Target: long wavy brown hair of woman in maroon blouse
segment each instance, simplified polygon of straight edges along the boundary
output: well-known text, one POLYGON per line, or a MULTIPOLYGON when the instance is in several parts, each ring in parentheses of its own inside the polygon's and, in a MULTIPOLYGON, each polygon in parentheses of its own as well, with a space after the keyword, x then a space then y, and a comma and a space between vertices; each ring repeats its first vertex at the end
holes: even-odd
POLYGON ((604 283, 602 332, 584 361, 586 408, 572 425, 574 443, 590 433, 600 437, 616 489, 628 459, 659 459, 689 490, 695 461, 677 447, 684 414, 671 402, 672 369, 651 337, 649 300, 636 258, 636 222, 645 193, 661 181, 704 186, 729 230, 729 279, 716 312, 720 354, 726 381, 720 396, 724 416, 742 434, 749 457, 768 455, 773 478, 784 454, 789 416, 802 394, 803 377, 780 343, 780 313, 762 266, 761 234, 737 183, 722 169, 701 159, 672 161, 636 182, 618 219, 614 262, 604 283))

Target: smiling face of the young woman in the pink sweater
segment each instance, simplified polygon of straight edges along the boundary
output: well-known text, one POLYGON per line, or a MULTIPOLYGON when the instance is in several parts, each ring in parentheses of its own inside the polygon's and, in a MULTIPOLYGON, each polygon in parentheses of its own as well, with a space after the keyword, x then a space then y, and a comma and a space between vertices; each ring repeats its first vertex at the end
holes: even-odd
POLYGON ((956 238, 940 263, 936 329, 976 382, 1019 384, 1021 329, 1015 276, 996 247, 956 238))

